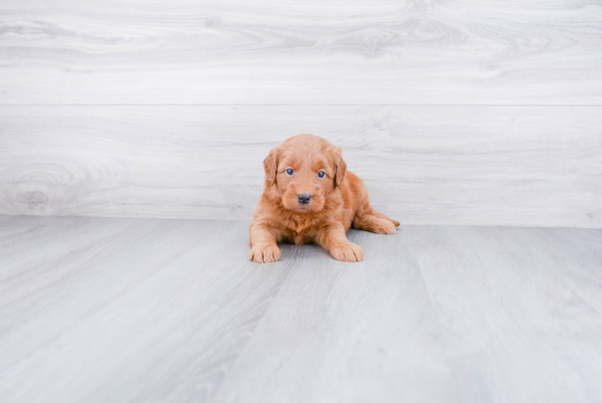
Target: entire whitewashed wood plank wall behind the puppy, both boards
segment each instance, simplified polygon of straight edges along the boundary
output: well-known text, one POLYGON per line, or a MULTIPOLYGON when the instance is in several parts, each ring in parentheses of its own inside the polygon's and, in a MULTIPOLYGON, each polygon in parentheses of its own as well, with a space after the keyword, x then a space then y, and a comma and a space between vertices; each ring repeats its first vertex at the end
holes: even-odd
POLYGON ((0 0, 0 214, 250 219, 299 133, 405 223, 602 227, 602 1, 0 0))

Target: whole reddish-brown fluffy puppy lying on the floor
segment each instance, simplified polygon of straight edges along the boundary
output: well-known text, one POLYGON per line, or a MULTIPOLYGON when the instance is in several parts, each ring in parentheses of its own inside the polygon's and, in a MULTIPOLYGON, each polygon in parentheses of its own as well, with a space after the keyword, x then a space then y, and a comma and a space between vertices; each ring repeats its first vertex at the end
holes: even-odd
POLYGON ((363 182, 347 171, 340 148, 313 135, 299 135, 273 148, 264 160, 266 181, 250 227, 248 258, 280 258, 277 243, 315 242, 343 262, 363 258, 345 232, 354 226, 395 233, 400 222, 374 210, 363 182))

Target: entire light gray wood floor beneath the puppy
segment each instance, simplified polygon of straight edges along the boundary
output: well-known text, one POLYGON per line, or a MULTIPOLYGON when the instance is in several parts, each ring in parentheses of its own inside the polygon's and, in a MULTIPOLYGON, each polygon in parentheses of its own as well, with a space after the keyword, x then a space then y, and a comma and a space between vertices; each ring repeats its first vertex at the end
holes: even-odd
POLYGON ((1 402, 599 402, 602 230, 0 216, 1 402))

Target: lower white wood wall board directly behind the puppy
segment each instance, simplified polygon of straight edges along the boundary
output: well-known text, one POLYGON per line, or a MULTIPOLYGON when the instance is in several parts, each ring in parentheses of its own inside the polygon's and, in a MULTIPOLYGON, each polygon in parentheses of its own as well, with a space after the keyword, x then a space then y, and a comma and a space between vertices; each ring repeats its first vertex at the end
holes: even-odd
POLYGON ((250 219, 269 149, 341 146, 404 223, 602 227, 602 107, 4 106, 0 214, 250 219))

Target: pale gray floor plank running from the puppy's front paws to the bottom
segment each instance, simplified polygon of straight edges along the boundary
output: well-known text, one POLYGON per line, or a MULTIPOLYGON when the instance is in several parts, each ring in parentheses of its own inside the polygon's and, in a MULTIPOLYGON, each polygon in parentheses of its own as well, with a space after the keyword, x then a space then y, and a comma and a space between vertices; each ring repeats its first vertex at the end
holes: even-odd
POLYGON ((466 402, 447 335, 407 243, 352 231, 359 264, 304 247, 215 398, 218 402, 466 402), (291 398, 292 396, 292 398, 291 398))

